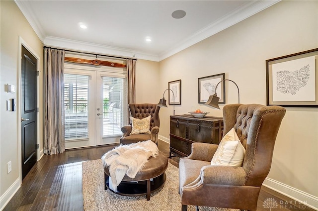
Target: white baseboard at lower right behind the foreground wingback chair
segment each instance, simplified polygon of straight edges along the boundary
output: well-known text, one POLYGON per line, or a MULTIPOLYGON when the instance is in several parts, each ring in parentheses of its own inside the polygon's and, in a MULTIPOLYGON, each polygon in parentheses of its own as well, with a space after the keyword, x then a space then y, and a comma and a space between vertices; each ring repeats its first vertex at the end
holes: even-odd
POLYGON ((265 179, 263 186, 318 211, 318 197, 270 178, 265 179))

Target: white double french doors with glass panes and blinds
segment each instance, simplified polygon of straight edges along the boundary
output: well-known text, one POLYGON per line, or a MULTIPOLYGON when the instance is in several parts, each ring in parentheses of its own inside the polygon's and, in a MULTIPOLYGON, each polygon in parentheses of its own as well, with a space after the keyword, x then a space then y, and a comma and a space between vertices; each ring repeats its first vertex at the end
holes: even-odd
POLYGON ((66 148, 119 143, 127 122, 126 90, 124 74, 66 69, 66 148))

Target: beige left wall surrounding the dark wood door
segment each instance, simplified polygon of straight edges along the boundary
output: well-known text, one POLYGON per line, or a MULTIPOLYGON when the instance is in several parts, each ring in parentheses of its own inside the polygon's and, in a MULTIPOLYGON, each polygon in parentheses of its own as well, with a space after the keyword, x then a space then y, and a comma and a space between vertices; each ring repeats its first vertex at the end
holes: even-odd
MULTIPOLYGON (((18 36, 20 36, 32 50, 40 56, 40 87, 42 87, 42 66, 43 66, 43 44, 37 37, 14 1, 0 1, 1 9, 1 72, 0 72, 0 197, 18 179, 18 112, 6 111, 6 100, 18 98, 18 92, 7 93, 5 85, 18 84, 18 36), (12 162, 12 171, 7 174, 6 164, 12 162)), ((42 90, 42 89, 41 89, 42 90)), ((18 87, 17 87, 18 91, 18 87)), ((18 99, 17 99, 18 100, 18 99)), ((42 101, 42 91, 40 92, 40 102, 42 101)), ((19 103, 19 102, 17 102, 19 103)), ((42 119, 42 104, 40 113, 42 119)), ((42 120, 40 120, 42 128, 42 120)), ((43 148, 43 133, 40 130, 40 149, 43 148)), ((1 204, 2 206, 2 204, 1 204)), ((0 207, 1 207, 0 206, 0 207)))

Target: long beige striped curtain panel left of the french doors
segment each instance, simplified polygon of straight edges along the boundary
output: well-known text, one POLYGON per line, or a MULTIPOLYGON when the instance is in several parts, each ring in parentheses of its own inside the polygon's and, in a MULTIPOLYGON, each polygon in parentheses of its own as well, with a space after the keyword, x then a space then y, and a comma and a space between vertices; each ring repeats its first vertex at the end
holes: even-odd
POLYGON ((64 57, 65 51, 45 48, 44 153, 65 151, 64 140, 64 57))

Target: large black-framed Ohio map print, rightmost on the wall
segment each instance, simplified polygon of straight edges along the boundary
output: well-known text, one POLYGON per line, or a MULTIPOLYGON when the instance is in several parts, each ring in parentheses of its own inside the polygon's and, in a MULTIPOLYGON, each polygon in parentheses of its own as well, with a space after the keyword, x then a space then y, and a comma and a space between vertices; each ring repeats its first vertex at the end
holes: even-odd
POLYGON ((266 60, 267 106, 318 107, 318 48, 266 60))

